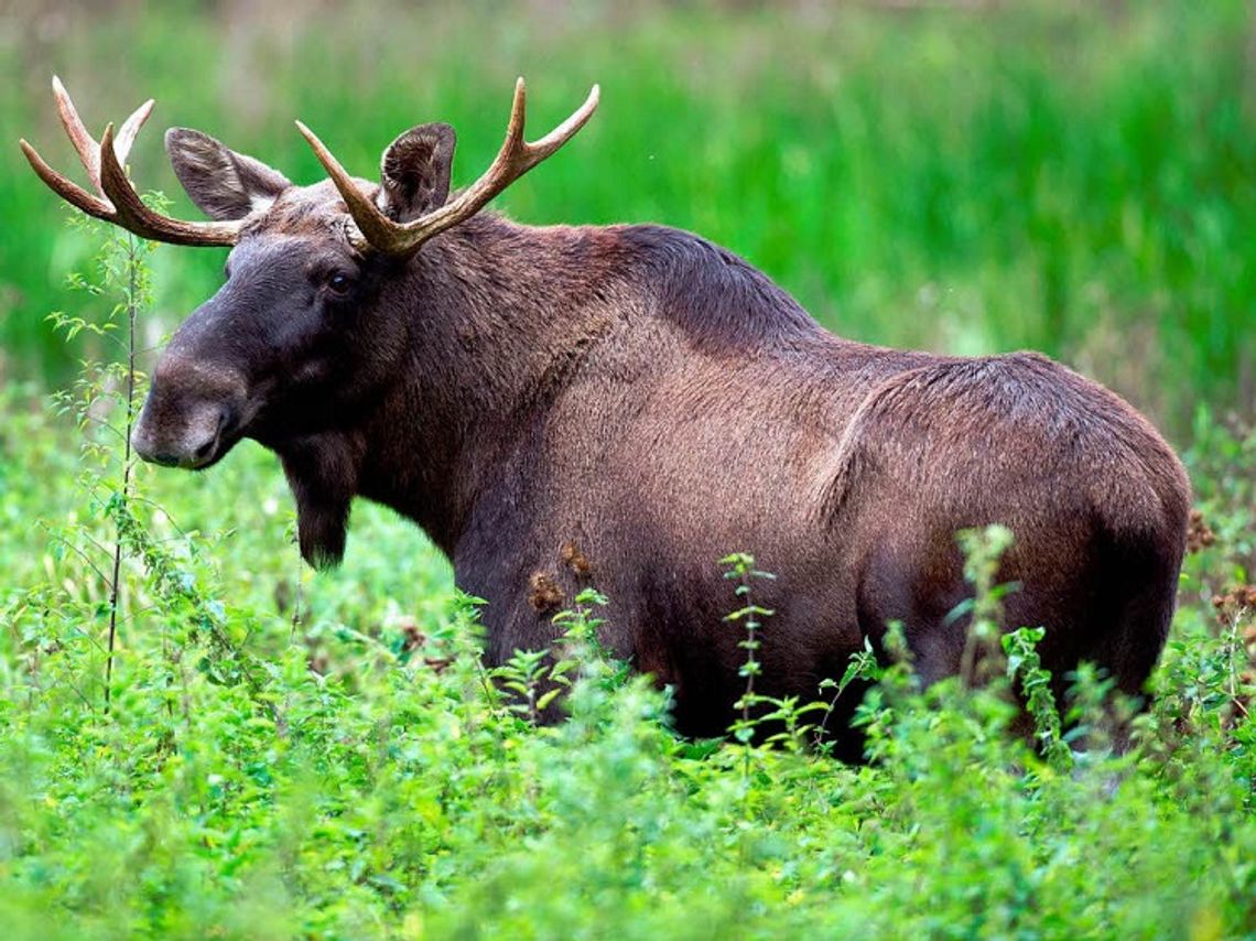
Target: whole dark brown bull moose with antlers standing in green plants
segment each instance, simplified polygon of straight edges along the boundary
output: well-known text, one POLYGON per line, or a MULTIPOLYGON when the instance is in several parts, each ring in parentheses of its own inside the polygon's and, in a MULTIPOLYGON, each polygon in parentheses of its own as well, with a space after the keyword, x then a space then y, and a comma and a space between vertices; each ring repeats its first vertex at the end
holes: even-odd
POLYGON ((658 225, 519 225, 482 211, 593 114, 598 89, 524 138, 524 83, 487 172, 451 199, 455 133, 420 124, 349 176, 295 186, 185 128, 166 150, 212 221, 141 201, 123 168, 152 102, 97 143, 54 79, 94 192, 59 196, 146 239, 230 246, 226 281, 157 363, 134 449, 196 469, 244 437, 279 455, 300 550, 335 564, 355 496, 414 520, 487 599, 485 656, 544 648, 584 584, 605 643, 674 688, 674 722, 721 734, 744 680, 716 560, 777 579, 760 690, 815 696, 904 636, 953 675, 968 589, 956 531, 1006 524, 1010 624, 1044 663, 1091 661, 1139 694, 1164 645, 1189 504, 1182 465, 1102 386, 1035 353, 958 358, 821 329, 732 253, 658 225))

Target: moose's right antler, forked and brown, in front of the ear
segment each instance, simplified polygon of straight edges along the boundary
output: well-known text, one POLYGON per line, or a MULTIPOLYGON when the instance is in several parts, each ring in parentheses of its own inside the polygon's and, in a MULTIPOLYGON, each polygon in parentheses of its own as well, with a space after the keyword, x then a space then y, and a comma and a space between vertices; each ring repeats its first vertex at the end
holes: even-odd
POLYGON ((545 137, 534 143, 524 139, 524 111, 525 94, 524 79, 515 83, 515 101, 510 109, 510 124, 506 128, 506 139, 501 144, 492 165, 484 176, 463 190, 452 201, 432 210, 427 215, 412 222, 394 222, 386 216, 378 206, 353 182, 340 162, 323 144, 322 141, 301 122, 296 122, 296 128, 301 132, 314 155, 327 170, 335 188, 340 191, 344 204, 349 207, 349 215, 357 222, 362 239, 378 251, 391 255, 408 255, 418 250, 418 246, 438 232, 443 232, 450 226, 470 219, 484 209, 494 196, 500 193, 519 177, 535 167, 543 160, 554 153, 559 147, 571 139, 577 131, 584 127, 585 122, 593 117, 598 107, 598 85, 589 92, 584 104, 575 111, 566 121, 550 131, 545 137))

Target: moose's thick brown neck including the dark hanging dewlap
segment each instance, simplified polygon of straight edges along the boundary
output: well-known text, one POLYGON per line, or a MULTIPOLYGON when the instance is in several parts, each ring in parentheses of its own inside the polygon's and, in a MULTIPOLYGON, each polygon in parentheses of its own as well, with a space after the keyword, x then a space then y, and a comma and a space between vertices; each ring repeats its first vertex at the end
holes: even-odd
POLYGON ((481 215, 386 279, 372 317, 404 324, 388 384, 364 421, 278 449, 303 555, 339 560, 355 495, 413 519, 452 555, 499 456, 612 323, 618 254, 613 230, 481 215))

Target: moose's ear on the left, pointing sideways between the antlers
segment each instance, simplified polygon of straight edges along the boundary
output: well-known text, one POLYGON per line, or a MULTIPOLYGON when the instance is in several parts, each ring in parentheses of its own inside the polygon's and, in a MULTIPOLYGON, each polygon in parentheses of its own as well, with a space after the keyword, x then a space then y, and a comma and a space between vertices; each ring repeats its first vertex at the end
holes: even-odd
POLYGON ((167 131, 166 153, 183 190, 210 219, 244 219, 291 186, 278 170, 191 128, 167 131))

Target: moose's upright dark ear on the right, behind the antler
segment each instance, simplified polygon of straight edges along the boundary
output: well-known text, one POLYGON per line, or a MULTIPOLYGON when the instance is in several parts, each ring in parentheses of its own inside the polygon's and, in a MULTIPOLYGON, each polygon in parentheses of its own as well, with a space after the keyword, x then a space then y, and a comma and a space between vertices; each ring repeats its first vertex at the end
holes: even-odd
POLYGON ((393 221, 409 222, 443 206, 455 141, 448 124, 420 124, 388 144, 379 161, 379 209, 393 221))

